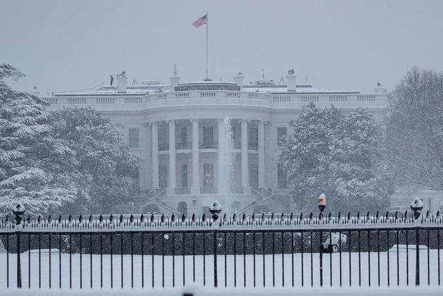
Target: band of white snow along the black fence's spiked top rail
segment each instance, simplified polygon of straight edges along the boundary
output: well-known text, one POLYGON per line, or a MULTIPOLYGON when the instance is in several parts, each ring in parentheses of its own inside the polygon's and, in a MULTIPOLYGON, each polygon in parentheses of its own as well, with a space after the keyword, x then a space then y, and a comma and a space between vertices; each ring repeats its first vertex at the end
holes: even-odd
MULTIPOLYGON (((379 216, 325 216, 322 218, 310 214, 307 218, 303 215, 294 216, 293 214, 281 214, 271 216, 255 215, 252 216, 236 216, 217 219, 214 223, 213 218, 196 218, 195 215, 186 218, 182 215, 177 217, 175 215, 130 215, 130 216, 79 216, 78 218, 62 218, 59 216, 56 219, 51 218, 28 218, 21 221, 22 232, 138 232, 140 230, 158 230, 163 231, 168 229, 170 231, 192 231, 192 230, 280 230, 280 229, 386 229, 392 227, 414 228, 414 227, 443 227, 443 216, 440 212, 437 214, 422 216, 419 220, 415 220, 412 212, 406 211, 404 214, 398 212, 379 216)), ((1 220, 0 233, 15 232, 17 229, 16 223, 10 218, 1 220)))

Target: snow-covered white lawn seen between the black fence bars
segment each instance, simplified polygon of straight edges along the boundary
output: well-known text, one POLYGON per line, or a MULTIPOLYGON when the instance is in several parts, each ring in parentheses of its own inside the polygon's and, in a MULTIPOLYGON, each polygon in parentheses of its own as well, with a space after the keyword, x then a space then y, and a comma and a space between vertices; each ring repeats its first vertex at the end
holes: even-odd
MULTIPOLYGON (((440 256, 443 255, 440 252, 440 256)), ((428 265, 428 250, 420 250, 420 283, 422 286, 428 285, 428 268, 431 285, 438 284, 438 250, 430 250, 429 265, 428 265)), ((350 285, 359 286, 359 275, 361 275, 361 286, 378 285, 378 270, 380 270, 380 284, 381 286, 388 285, 388 267, 390 286, 397 286, 397 271, 399 276, 399 285, 405 286, 406 279, 409 279, 409 285, 415 284, 415 250, 399 249, 399 268, 397 270, 397 248, 393 248, 390 252, 380 252, 379 257, 377 252, 371 252, 370 265, 368 264, 368 253, 341 253, 341 268, 340 268, 340 254, 323 254, 323 285, 329 286, 331 284, 332 271, 332 286, 340 286, 340 270, 343 286, 350 285), (389 254, 389 266, 388 266, 389 254), (408 255, 408 266, 406 265, 406 258, 408 255), (331 261, 332 259, 332 261, 331 261), (351 263, 350 263, 351 260, 351 263), (360 260, 360 269, 359 269, 360 260), (330 268, 332 264, 332 269, 330 268), (350 270, 351 268, 351 270, 350 270), (351 275, 351 276, 350 276, 351 275)), ((42 287, 49 286, 49 255, 42 253, 41 255, 41 276, 39 277, 39 254, 35 252, 21 254, 21 274, 22 285, 28 287, 28 256, 30 256, 30 286, 37 288, 39 280, 42 287)), ((69 288, 70 281, 70 256, 69 254, 61 254, 61 280, 62 288, 69 288)), ((6 254, 0 254, 0 288, 6 288, 7 273, 6 273, 6 254)), ((113 256, 112 277, 114 288, 121 287, 122 276, 122 256, 113 256)), ((82 278, 82 287, 89 288, 91 286, 91 256, 89 254, 82 254, 82 270, 80 270, 80 254, 71 255, 71 275, 72 287, 80 288, 80 271, 82 278)), ((152 256, 143 256, 143 279, 145 287, 152 287, 152 256)), ((192 284, 192 256, 185 256, 184 280, 185 284, 192 284)), ((294 286, 302 285, 311 286, 311 270, 313 275, 313 285, 320 285, 320 271, 319 271, 319 254, 293 254, 293 274, 292 274, 292 255, 291 254, 275 254, 264 256, 257 254, 255 256, 255 285, 258 287, 273 286, 273 279, 275 279, 275 286, 281 287, 284 279, 284 286, 292 286, 292 275, 294 279, 294 286), (311 268, 312 260, 312 268, 311 268), (274 261, 274 264, 273 264, 274 261), (303 268, 302 268, 303 263, 303 268), (274 266, 274 268, 273 268, 274 266), (265 272, 263 282, 263 272, 265 272)), ((59 287, 59 254, 51 254, 51 286, 53 288, 59 287)), ((214 257, 212 255, 195 256, 195 282, 198 286, 204 283, 204 275, 206 275, 206 286, 214 285, 213 277, 213 263, 214 257)), ((9 254, 9 285, 16 286, 17 279, 17 257, 15 254, 9 254)), ((164 285, 165 287, 172 287, 173 275, 174 285, 183 286, 183 256, 165 256, 164 265, 162 256, 154 256, 154 287, 160 288, 163 285, 164 271, 164 285), (164 268, 163 268, 164 266, 164 268), (174 266, 174 268, 173 268, 174 266)), ((219 286, 225 285, 225 257, 224 255, 217 256, 217 271, 219 286)), ((440 266, 440 272, 442 268, 440 266)), ((226 256, 226 284, 228 287, 234 285, 234 279, 237 279, 237 286, 244 286, 244 275, 246 274, 246 286, 252 287, 254 285, 254 257, 252 255, 233 255, 226 256), (246 260, 246 261, 244 261, 246 260), (236 265, 234 265, 234 262, 236 265), (244 269, 246 267, 246 270, 244 269)), ((442 276, 440 276, 442 277, 442 276)), ((142 256, 123 255, 123 287, 129 288, 132 286, 132 279, 134 288, 142 286, 142 256), (132 277, 133 275, 133 277, 132 277)), ((111 256, 102 256, 102 284, 104 288, 111 287, 111 256)), ((92 255, 92 285, 94 288, 100 287, 100 255, 92 255)))

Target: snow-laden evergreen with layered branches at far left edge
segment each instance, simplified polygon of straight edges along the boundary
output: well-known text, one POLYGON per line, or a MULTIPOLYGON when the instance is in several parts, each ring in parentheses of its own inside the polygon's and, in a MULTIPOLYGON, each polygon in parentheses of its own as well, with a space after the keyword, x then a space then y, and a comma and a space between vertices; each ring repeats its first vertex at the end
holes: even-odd
POLYGON ((27 213, 42 213, 74 198, 57 182, 57 174, 75 164, 75 153, 52 137, 46 103, 4 81, 22 76, 15 67, 0 64, 0 213, 17 202, 27 213))

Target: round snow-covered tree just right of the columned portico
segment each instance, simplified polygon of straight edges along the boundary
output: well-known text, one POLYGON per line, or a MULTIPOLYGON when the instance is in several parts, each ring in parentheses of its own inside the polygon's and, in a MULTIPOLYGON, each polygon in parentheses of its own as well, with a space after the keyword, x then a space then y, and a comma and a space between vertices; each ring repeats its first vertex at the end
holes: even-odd
POLYGON ((282 141, 279 162, 300 209, 316 210, 320 193, 331 211, 388 205, 392 186, 383 162, 383 133, 371 114, 361 108, 344 114, 311 103, 289 125, 293 134, 282 141))

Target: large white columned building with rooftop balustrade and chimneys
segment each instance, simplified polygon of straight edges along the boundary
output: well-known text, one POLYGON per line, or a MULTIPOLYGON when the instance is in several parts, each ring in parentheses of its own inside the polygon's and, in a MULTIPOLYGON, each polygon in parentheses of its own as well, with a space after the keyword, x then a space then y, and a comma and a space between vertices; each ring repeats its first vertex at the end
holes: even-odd
POLYGON ((329 91, 297 85, 290 70, 284 85, 262 78, 243 85, 241 73, 234 82, 198 81, 170 85, 144 81, 127 85, 125 73, 115 85, 97 91, 57 93, 44 97, 49 110, 93 107, 118 123, 140 162, 140 187, 146 204, 160 211, 201 214, 220 192, 219 153, 226 118, 233 132, 233 211, 295 211, 287 177, 278 165, 279 139, 292 131, 303 105, 335 105, 347 110, 364 107, 383 121, 388 112, 386 91, 378 85, 372 94, 329 91))

